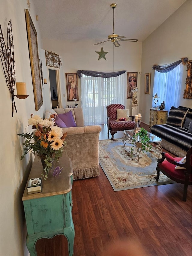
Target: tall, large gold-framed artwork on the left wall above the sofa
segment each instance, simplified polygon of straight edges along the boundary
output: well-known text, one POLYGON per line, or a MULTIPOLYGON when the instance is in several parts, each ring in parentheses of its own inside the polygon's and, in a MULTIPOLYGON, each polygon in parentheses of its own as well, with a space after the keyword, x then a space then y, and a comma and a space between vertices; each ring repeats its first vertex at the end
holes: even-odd
POLYGON ((29 45, 29 57, 31 64, 31 74, 33 83, 33 93, 35 99, 35 110, 38 111, 43 105, 43 96, 41 89, 41 73, 39 65, 39 53, 38 53, 38 42, 37 32, 32 22, 29 11, 26 9, 26 26, 27 26, 27 37, 29 45))

